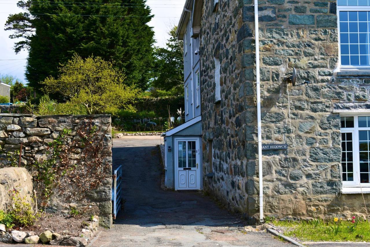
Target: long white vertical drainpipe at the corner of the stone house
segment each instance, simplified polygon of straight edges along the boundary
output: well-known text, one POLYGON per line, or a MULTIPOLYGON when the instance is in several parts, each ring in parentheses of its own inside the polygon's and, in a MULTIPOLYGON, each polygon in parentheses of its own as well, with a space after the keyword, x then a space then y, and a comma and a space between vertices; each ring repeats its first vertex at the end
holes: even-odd
POLYGON ((263 183, 262 183, 262 134, 261 134, 261 92, 259 79, 259 30, 258 30, 258 0, 255 7, 255 42, 256 42, 256 89, 257 89, 257 128, 258 128, 258 174, 259 174, 259 221, 263 222, 263 183))

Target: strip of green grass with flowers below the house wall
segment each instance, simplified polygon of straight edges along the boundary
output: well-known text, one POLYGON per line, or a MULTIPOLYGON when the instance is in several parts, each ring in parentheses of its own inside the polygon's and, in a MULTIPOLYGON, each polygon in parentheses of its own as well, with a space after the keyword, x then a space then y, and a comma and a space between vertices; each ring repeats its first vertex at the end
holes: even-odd
MULTIPOLYGON (((352 219, 351 219, 352 220, 352 219)), ((369 223, 364 219, 357 219, 356 223, 351 220, 338 220, 334 222, 322 220, 301 221, 278 221, 271 222, 284 230, 284 235, 296 237, 302 241, 366 241, 370 242, 369 223), (337 234, 335 229, 338 228, 337 234)))

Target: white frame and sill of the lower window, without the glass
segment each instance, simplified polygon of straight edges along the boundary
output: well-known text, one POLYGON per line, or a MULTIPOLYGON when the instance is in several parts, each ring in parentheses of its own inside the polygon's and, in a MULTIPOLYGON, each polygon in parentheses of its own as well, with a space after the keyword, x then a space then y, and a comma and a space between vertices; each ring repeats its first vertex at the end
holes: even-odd
MULTIPOLYGON (((370 127, 359 128, 359 116, 370 116, 370 113, 353 114, 350 112, 340 113, 340 116, 353 116, 354 128, 341 128, 340 133, 352 133, 353 150, 353 181, 342 181, 343 194, 370 193, 370 183, 360 183, 360 151, 359 151, 359 131, 368 130, 370 127)), ((342 140, 342 136, 341 136, 342 140)), ((340 164, 342 165, 342 164, 340 164)), ((340 174, 342 176, 342 174, 340 174)))

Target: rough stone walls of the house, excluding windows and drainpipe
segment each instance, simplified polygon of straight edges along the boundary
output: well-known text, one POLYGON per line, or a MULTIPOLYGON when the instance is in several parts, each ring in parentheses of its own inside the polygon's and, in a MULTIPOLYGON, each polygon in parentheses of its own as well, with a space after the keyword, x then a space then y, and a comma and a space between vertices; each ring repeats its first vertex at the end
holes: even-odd
MULTIPOLYGON (((209 11, 211 3, 203 6, 203 172, 210 169, 206 144, 213 139, 215 176, 204 182, 205 190, 229 208, 258 218, 252 2, 232 6, 222 1, 217 14, 209 11), (222 57, 220 105, 212 102, 216 49, 222 57)), ((320 205, 324 214, 365 213, 361 195, 340 196, 339 164, 332 165, 341 160, 340 118, 332 111, 369 108, 370 82, 366 73, 335 72, 336 1, 259 1, 259 32, 263 143, 289 145, 263 151, 265 214, 312 216, 320 205), (295 87, 286 80, 293 67, 298 72, 295 87)))

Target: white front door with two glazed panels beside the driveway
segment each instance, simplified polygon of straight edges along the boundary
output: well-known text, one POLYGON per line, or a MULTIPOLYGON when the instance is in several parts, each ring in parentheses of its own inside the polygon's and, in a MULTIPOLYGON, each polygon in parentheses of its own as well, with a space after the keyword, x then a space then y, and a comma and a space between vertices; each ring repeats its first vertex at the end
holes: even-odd
POLYGON ((176 190, 200 190, 199 139, 175 139, 176 190))

